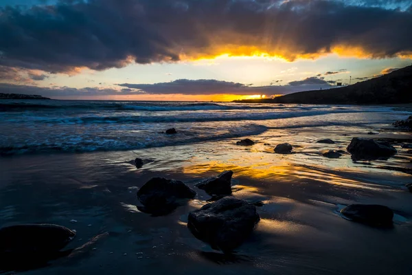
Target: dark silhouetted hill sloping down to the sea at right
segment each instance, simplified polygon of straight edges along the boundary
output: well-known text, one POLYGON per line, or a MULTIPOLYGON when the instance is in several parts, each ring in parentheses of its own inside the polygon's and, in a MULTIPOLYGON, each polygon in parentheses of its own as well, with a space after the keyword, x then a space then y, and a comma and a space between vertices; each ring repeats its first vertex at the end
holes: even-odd
POLYGON ((412 102, 412 66, 347 87, 300 91, 286 96, 238 102, 299 104, 399 104, 412 102))

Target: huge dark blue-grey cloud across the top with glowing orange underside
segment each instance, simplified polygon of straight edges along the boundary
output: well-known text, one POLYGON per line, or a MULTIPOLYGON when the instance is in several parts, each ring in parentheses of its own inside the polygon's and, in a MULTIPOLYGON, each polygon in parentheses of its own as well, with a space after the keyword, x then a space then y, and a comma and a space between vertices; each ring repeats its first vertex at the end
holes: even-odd
POLYGON ((410 9, 355 2, 61 0, 3 7, 0 65, 76 74, 82 68, 221 54, 265 53, 289 61, 330 52, 368 58, 412 55, 410 9))

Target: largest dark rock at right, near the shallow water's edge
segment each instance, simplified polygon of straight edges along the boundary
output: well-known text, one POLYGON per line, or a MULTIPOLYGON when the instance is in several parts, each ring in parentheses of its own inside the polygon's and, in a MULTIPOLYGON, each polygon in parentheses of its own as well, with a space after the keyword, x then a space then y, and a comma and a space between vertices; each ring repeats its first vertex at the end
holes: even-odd
POLYGON ((352 154, 354 160, 388 159, 397 153, 389 142, 376 142, 362 137, 354 137, 347 151, 352 154))

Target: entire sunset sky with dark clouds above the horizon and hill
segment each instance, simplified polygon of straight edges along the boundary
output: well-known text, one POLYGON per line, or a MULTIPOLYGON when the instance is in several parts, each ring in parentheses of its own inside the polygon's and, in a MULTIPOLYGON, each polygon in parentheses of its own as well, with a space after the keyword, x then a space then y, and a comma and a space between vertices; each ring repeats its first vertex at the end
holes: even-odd
POLYGON ((412 0, 0 0, 0 92, 214 100, 412 63, 412 0))

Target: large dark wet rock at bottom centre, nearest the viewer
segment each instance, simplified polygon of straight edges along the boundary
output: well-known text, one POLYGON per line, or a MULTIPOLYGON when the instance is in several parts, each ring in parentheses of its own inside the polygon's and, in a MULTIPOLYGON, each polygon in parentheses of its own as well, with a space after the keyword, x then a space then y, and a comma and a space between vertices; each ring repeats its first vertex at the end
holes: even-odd
POLYGON ((247 239, 259 221, 256 207, 251 203, 225 197, 191 212, 187 227, 214 250, 229 253, 247 239))

